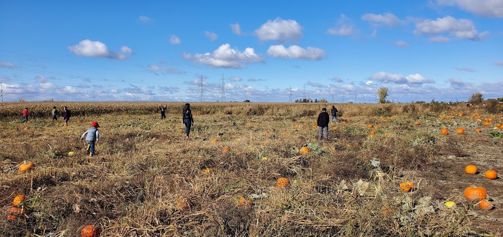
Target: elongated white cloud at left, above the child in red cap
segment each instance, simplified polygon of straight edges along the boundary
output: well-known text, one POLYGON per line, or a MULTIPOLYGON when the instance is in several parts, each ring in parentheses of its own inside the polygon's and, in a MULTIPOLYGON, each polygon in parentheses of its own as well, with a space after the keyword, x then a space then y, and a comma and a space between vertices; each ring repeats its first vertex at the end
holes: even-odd
POLYGON ((120 52, 112 52, 102 42, 91 40, 83 40, 76 45, 68 46, 68 50, 79 56, 118 60, 124 60, 127 58, 126 55, 133 54, 133 51, 127 46, 122 46, 120 52))

